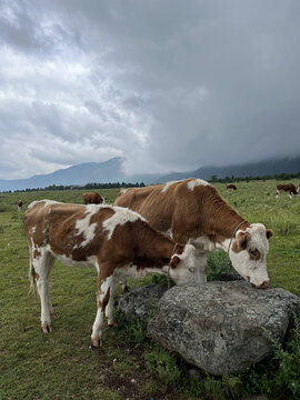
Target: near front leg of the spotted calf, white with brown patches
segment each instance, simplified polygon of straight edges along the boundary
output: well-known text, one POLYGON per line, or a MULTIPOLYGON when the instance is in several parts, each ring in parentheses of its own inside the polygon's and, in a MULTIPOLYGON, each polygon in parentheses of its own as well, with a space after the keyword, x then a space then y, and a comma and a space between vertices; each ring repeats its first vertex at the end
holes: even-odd
POLYGON ((91 343, 93 347, 102 346, 103 316, 104 316, 106 307, 109 302, 110 288, 112 286, 112 281, 113 281, 113 276, 99 279, 99 287, 97 294, 98 310, 92 326, 92 334, 91 334, 91 343))

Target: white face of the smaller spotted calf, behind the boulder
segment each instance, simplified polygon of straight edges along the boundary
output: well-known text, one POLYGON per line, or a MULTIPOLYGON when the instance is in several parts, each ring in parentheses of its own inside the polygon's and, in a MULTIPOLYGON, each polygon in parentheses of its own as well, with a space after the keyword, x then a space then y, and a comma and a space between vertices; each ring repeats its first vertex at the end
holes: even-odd
POLYGON ((199 254, 192 244, 186 244, 182 254, 173 254, 169 263, 169 274, 176 284, 203 283, 206 276, 206 254, 203 254, 203 268, 199 269, 199 254), (203 270, 203 272, 201 272, 203 270))

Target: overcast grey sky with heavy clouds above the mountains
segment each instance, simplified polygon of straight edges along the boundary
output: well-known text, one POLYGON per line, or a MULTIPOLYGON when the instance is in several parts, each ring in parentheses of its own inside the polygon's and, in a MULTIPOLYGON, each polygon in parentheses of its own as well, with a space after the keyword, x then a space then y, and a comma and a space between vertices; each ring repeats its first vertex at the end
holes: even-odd
POLYGON ((299 153, 299 0, 0 0, 0 179, 299 153))

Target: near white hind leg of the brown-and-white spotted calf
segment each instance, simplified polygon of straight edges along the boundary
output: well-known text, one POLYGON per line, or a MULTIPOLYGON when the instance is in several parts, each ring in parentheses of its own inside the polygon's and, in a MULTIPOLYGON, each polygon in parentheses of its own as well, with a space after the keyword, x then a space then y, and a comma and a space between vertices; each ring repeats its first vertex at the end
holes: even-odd
POLYGON ((43 332, 51 332, 51 317, 53 318, 54 313, 49 294, 49 276, 54 263, 54 257, 44 249, 39 249, 33 251, 31 262, 41 301, 41 329, 43 332))

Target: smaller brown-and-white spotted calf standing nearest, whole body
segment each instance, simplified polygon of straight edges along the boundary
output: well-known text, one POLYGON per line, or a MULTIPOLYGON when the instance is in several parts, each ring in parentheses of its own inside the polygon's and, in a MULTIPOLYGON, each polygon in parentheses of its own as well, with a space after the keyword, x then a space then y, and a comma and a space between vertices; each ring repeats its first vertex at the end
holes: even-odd
POLYGON ((50 200, 29 204, 23 217, 29 242, 30 281, 41 300, 41 328, 51 331, 53 313, 49 276, 54 260, 93 266, 98 271, 98 312, 92 346, 101 346, 103 313, 113 326, 113 297, 119 280, 158 272, 177 284, 201 283, 196 249, 162 234, 137 212, 109 206, 69 204, 50 200))

